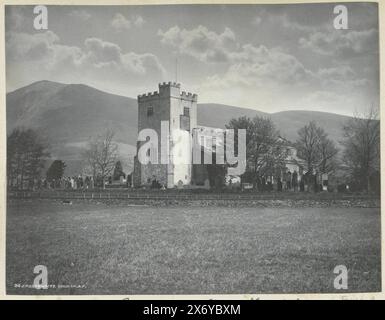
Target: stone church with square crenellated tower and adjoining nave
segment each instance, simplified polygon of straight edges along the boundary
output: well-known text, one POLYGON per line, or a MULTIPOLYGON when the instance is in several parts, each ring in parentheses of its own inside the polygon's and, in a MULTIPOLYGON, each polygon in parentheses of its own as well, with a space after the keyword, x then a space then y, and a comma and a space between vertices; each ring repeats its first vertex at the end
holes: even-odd
MULTIPOLYGON (((214 166, 207 165, 207 163, 214 163, 210 162, 214 158, 214 151, 218 145, 224 143, 218 139, 218 136, 225 130, 198 126, 197 98, 196 94, 181 91, 180 84, 175 82, 160 83, 158 91, 138 96, 139 135, 144 130, 144 136, 146 136, 146 130, 151 129, 153 133, 156 133, 158 139, 157 146, 147 150, 147 163, 138 159, 139 150, 147 143, 147 140, 138 139, 138 152, 134 159, 133 172, 135 187, 151 186, 154 181, 158 186, 166 188, 208 187, 209 170, 213 170, 214 166), (199 137, 200 140, 199 163, 195 159, 192 161, 194 157, 192 140, 194 138, 191 139, 191 137, 194 136, 199 137), (167 163, 159 161, 162 158, 164 160, 162 144, 163 148, 167 149, 167 163), (209 162, 204 161, 206 156, 211 158, 209 162), (153 161, 155 159, 157 161, 153 161)), ((296 158, 295 150, 293 151, 293 156, 296 158)), ((298 172, 298 162, 293 156, 287 159, 287 167, 298 172)))

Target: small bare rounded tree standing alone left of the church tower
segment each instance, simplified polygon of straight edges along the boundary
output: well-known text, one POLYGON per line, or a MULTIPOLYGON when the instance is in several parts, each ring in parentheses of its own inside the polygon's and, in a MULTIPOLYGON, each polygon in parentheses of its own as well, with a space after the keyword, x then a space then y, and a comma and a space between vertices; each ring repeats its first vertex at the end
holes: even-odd
POLYGON ((87 164, 87 171, 96 178, 101 178, 103 188, 108 176, 112 174, 118 155, 118 146, 114 142, 114 131, 107 129, 103 134, 98 135, 88 142, 84 151, 84 160, 87 164))

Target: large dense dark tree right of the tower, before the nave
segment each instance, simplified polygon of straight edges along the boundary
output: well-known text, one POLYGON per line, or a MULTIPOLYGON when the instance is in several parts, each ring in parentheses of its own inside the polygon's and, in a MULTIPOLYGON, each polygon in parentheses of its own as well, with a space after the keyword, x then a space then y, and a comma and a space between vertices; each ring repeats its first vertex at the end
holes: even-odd
MULTIPOLYGON (((240 117, 230 120, 227 129, 246 129, 246 172, 254 187, 257 180, 266 174, 274 174, 285 167, 288 150, 273 121, 265 117, 240 117)), ((234 134, 237 148, 237 131, 234 134)))

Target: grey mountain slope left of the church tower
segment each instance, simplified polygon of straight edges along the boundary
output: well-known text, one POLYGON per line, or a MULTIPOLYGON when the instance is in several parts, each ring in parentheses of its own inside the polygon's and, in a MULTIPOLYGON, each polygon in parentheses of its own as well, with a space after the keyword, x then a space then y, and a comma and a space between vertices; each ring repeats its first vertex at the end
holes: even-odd
POLYGON ((81 84, 40 81, 7 94, 7 132, 15 127, 38 130, 50 144, 51 157, 66 161, 66 174, 79 173, 89 137, 107 127, 115 128, 120 157, 129 163, 136 119, 135 99, 81 84))

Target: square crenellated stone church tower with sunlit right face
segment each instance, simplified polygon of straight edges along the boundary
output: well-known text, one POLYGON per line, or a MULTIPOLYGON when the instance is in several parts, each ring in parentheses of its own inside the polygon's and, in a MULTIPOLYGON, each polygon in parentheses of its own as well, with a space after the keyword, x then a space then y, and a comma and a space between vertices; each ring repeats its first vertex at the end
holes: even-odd
MULTIPOLYGON (((154 180, 167 188, 191 183, 191 141, 189 136, 197 126, 197 95, 180 91, 179 83, 163 82, 159 91, 138 96, 138 133, 152 129, 158 136, 158 164, 134 164, 134 185, 151 185, 154 180), (168 137, 162 137, 162 121, 168 121, 168 137), (168 164, 160 163, 161 142, 168 143, 168 164)), ((137 151, 146 143, 138 141, 137 151)), ((150 153, 152 151, 150 150, 150 153)), ((149 155, 151 158, 151 156, 149 155)))

